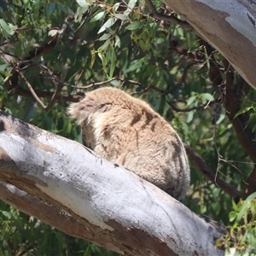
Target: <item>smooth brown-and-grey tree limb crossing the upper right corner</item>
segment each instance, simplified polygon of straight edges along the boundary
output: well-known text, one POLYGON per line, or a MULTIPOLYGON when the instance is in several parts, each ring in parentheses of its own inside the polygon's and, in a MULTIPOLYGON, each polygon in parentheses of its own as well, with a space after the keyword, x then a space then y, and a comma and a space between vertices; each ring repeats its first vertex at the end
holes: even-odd
POLYGON ((163 0, 256 89, 255 0, 163 0))

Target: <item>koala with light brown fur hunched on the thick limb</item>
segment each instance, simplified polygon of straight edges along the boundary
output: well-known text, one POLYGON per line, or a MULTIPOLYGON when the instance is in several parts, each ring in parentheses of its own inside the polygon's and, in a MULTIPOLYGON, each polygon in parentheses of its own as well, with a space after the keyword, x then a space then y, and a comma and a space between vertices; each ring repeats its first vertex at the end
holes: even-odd
POLYGON ((160 114, 122 90, 88 92, 68 108, 81 126, 84 145, 180 200, 189 189, 183 143, 160 114))

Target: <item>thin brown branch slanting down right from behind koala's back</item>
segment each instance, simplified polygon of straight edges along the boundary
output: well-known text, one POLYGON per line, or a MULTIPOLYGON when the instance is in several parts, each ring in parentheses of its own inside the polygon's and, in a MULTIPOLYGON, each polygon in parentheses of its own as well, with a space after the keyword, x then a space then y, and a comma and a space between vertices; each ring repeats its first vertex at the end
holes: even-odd
POLYGON ((187 144, 184 144, 184 147, 187 154, 189 155, 190 160, 192 160, 196 168, 205 177, 207 177, 207 179, 209 179, 213 184, 231 195, 235 201, 239 201, 240 192, 234 186, 230 185, 229 183, 225 183, 224 180, 217 177, 216 174, 212 171, 212 168, 207 165, 206 161, 203 160, 201 156, 195 152, 195 149, 191 148, 187 144))

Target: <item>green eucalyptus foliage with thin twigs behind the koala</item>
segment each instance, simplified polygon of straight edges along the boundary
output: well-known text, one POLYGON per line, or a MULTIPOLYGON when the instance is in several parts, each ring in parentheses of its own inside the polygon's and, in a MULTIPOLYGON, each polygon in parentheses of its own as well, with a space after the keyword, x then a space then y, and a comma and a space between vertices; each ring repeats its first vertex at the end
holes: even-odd
MULTIPOLYGON (((230 225, 239 237, 231 246, 255 253, 255 193, 246 200, 246 191, 256 190, 255 183, 248 189, 255 160, 237 139, 233 119, 242 120, 255 143, 256 92, 215 49, 177 25, 178 15, 153 3, 166 20, 136 0, 2 1, 0 108, 80 141, 67 118, 69 102, 105 84, 142 98, 213 170, 211 181, 189 158, 191 186, 183 203, 230 225), (216 177, 233 187, 224 189, 216 177)), ((3 255, 114 255, 3 202, 0 226, 3 255)))

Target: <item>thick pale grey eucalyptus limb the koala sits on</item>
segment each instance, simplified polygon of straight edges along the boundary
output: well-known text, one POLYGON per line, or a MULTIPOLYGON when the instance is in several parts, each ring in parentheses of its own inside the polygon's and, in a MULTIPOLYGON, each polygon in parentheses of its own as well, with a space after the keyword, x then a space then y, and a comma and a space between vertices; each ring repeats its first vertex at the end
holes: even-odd
POLYGON ((2 111, 0 180, 4 201, 121 255, 224 255, 218 231, 170 195, 2 111))

